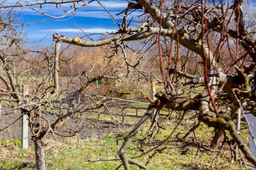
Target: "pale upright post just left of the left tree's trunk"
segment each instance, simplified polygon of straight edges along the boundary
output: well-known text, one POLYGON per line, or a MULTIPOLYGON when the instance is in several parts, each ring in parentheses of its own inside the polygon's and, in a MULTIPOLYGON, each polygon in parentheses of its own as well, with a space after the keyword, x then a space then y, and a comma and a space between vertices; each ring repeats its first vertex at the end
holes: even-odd
MULTIPOLYGON (((28 94, 28 85, 23 86, 23 93, 28 94)), ((22 149, 28 149, 28 115, 22 116, 21 138, 22 149)))

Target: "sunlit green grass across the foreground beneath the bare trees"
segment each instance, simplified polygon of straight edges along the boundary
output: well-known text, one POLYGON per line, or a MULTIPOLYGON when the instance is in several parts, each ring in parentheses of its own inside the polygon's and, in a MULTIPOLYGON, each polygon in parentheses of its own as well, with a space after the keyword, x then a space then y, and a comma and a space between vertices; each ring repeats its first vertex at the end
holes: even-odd
MULTIPOLYGON (((104 120, 106 118, 106 115, 102 115, 101 117, 101 119, 104 120)), ((138 119, 131 120, 131 122, 134 123, 136 121, 138 121, 138 119)), ((148 121, 143 129, 146 130, 149 124, 150 122, 148 121)), ((130 157, 139 156, 142 152, 139 151, 138 147, 146 151, 158 145, 160 141, 166 139, 167 136, 172 133, 176 123, 173 120, 166 120, 163 124, 167 130, 161 130, 161 134, 156 135, 155 139, 152 139, 151 142, 147 141, 143 146, 138 143, 132 143, 129 145, 126 154, 130 157)), ((189 135, 186 140, 182 140, 183 135, 190 129, 189 127, 184 126, 184 121, 182 124, 183 126, 180 125, 172 137, 157 149, 158 153, 154 155, 147 165, 149 170, 192 169, 197 153, 197 148, 192 146, 192 144, 196 142, 192 135, 189 135)), ((245 128, 246 125, 243 123, 241 124, 241 127, 245 128)), ((92 137, 86 140, 68 138, 64 142, 46 140, 46 143, 48 143, 46 146, 47 167, 48 169, 54 170, 113 170, 120 165, 120 161, 98 161, 94 163, 90 161, 99 160, 100 158, 105 160, 115 159, 118 150, 116 139, 118 139, 119 145, 121 145, 123 143, 123 137, 131 130, 131 128, 125 128, 125 130, 119 130, 118 133, 110 132, 108 134, 103 134, 102 138, 92 137)), ((205 124, 201 124, 200 127, 195 130, 197 140, 199 140, 201 144, 210 145, 213 130, 213 128, 208 128, 205 124)), ((143 134, 145 135, 145 133, 143 134)), ((229 133, 227 133, 227 135, 230 138, 229 133)), ((241 130, 241 137, 248 141, 248 131, 246 129, 241 130)), ((141 136, 136 136, 134 139, 138 140, 141 138, 141 136)), ((148 161, 148 155, 152 155, 153 153, 154 152, 150 152, 140 158, 136 158, 136 160, 145 164, 148 161)), ((210 163, 215 158, 216 153, 209 153, 210 155, 206 152, 200 154, 195 163, 195 169, 206 170, 210 167, 210 163)), ((18 165, 20 166, 22 163, 26 162, 35 163, 33 146, 26 152, 15 146, 13 148, 1 146, 0 158, 0 168, 5 170, 14 169, 14 166, 18 167, 18 165)), ((226 146, 221 151, 220 156, 216 159, 213 168, 237 170, 240 169, 240 166, 238 162, 231 162, 230 149, 226 146)), ((26 170, 33 168, 22 169, 26 170)), ((123 170, 123 167, 120 169, 123 170)), ((131 165, 131 170, 137 169, 138 167, 131 165)))

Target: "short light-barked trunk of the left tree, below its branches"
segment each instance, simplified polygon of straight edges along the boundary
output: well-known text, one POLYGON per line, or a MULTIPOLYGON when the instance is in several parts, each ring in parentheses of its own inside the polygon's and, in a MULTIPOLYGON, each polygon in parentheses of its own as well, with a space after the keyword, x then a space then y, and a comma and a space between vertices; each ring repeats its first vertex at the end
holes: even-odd
POLYGON ((45 152, 44 145, 41 143, 39 139, 33 139, 35 143, 35 152, 36 152, 36 169, 37 170, 47 170, 46 169, 46 160, 45 160, 45 152))

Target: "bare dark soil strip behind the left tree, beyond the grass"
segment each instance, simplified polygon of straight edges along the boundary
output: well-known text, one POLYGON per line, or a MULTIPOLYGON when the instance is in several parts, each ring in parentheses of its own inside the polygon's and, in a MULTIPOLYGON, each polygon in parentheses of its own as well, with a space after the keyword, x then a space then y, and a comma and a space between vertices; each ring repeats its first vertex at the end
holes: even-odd
MULTIPOLYGON (((4 110, 8 109, 8 107, 5 107, 4 110)), ((88 113, 90 114, 90 113, 88 113)), ((2 113, 2 115, 4 115, 2 113)), ((51 112, 47 112, 46 114, 43 114, 44 117, 46 117, 50 123, 53 123, 56 118, 54 117, 54 114, 51 112)), ((60 114, 56 115, 57 117, 61 116, 60 114)), ((21 140, 21 118, 19 119, 20 114, 18 112, 12 113, 10 115, 5 115, 2 117, 2 120, 0 120, 0 129, 4 129, 7 126, 5 130, 0 132, 0 141, 3 140, 11 140, 11 139, 17 139, 21 140)), ((66 137, 64 135, 74 135, 74 133, 67 133, 65 131, 79 130, 78 133, 76 133, 77 136, 81 139, 85 138, 91 138, 92 136, 95 138, 101 138, 102 134, 104 133, 110 133, 110 132, 120 132, 120 129, 128 128, 130 125, 125 125, 123 123, 114 123, 111 121, 106 120, 97 120, 95 118, 88 118, 88 117, 72 117, 70 120, 68 120, 62 127, 57 129, 57 133, 60 133, 60 135, 56 135, 55 137, 57 140, 64 140, 66 137)), ((29 135, 31 135, 30 129, 29 135)), ((55 139, 53 135, 49 134, 49 138, 55 139)), ((32 145, 33 142, 29 140, 29 145, 32 145)))

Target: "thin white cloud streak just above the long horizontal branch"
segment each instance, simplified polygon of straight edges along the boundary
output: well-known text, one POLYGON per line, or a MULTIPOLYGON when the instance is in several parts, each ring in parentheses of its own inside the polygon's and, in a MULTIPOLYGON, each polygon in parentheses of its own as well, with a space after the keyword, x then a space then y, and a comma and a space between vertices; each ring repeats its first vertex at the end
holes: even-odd
MULTIPOLYGON (((117 29, 106 29, 106 28, 81 28, 85 33, 105 33, 105 32, 115 32, 117 29)), ((79 29, 73 28, 59 28, 59 29, 47 29, 38 30, 38 32, 72 32, 72 33, 82 33, 79 29)))

